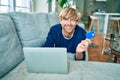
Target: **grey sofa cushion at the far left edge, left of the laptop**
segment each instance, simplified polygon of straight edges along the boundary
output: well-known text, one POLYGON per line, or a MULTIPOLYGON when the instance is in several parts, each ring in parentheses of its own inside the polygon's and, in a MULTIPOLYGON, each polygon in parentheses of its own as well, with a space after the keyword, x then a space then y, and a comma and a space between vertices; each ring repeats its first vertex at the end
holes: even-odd
POLYGON ((0 77, 23 60, 23 51, 10 17, 0 15, 0 77))

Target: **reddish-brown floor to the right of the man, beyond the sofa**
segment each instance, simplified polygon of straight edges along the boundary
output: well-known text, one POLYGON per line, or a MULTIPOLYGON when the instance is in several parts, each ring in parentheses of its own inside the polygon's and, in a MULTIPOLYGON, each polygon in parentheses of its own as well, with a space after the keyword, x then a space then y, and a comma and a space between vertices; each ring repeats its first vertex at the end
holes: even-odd
MULTIPOLYGON (((89 61, 108 62, 108 60, 110 59, 109 54, 102 53, 103 39, 104 39, 103 34, 96 34, 96 37, 92 39, 92 43, 95 44, 96 46, 88 48, 89 61)), ((104 48, 108 49, 108 46, 109 41, 105 40, 104 48)))

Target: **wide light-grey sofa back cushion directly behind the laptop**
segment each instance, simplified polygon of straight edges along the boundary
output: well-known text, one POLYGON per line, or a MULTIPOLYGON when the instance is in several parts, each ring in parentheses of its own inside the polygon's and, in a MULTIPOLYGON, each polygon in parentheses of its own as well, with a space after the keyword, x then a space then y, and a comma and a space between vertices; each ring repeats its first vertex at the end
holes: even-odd
POLYGON ((42 46, 50 29, 47 13, 9 13, 16 25, 20 41, 25 47, 42 46))

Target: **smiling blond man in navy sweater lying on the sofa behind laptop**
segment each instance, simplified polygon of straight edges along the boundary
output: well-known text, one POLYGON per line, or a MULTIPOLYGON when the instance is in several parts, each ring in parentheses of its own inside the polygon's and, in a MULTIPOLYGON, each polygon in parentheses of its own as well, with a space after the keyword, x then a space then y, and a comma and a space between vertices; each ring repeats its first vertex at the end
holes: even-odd
POLYGON ((76 54, 76 60, 85 60, 85 51, 91 43, 86 39, 86 31, 77 25, 78 12, 73 8, 65 8, 61 11, 60 24, 51 27, 45 47, 65 47, 67 52, 76 54))

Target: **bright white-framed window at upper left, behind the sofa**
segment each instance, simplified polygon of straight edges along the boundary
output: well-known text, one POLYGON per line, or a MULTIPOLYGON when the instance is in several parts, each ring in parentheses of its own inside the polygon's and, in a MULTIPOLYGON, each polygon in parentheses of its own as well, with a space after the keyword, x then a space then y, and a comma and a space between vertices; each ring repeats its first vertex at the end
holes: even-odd
POLYGON ((30 12, 32 0, 0 0, 0 13, 30 12))

